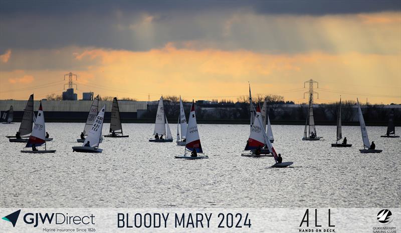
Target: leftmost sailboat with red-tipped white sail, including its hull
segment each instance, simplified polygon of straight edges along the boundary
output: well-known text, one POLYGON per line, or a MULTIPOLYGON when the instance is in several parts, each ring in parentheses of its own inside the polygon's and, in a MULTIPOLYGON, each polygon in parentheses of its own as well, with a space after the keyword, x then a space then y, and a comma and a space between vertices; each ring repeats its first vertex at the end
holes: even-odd
POLYGON ((46 149, 46 128, 45 128, 45 115, 42 109, 42 101, 39 106, 38 115, 35 118, 35 126, 32 129, 31 136, 28 139, 28 143, 25 148, 32 148, 33 145, 41 146, 45 145, 45 150, 21 150, 23 153, 54 153, 56 150, 46 149))

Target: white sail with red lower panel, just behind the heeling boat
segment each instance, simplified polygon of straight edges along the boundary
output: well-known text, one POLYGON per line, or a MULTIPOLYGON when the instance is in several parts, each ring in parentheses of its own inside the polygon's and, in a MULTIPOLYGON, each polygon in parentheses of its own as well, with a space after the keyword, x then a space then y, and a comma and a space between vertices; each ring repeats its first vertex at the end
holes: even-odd
POLYGON ((245 150, 253 150, 257 149, 259 146, 262 148, 265 146, 264 142, 265 139, 263 137, 263 132, 265 131, 265 129, 261 124, 261 122, 262 122, 262 114, 260 105, 258 104, 258 107, 256 109, 255 120, 254 123, 252 124, 251 134, 249 135, 249 139, 247 145, 245 146, 245 150))

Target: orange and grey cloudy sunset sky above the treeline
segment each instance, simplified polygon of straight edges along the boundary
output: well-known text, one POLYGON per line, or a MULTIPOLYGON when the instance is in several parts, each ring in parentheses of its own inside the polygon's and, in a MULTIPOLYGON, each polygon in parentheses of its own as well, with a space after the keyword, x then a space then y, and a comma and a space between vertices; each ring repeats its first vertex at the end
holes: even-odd
POLYGON ((401 104, 401 1, 1 1, 0 99, 232 99, 401 104))

